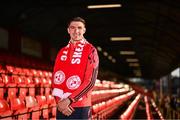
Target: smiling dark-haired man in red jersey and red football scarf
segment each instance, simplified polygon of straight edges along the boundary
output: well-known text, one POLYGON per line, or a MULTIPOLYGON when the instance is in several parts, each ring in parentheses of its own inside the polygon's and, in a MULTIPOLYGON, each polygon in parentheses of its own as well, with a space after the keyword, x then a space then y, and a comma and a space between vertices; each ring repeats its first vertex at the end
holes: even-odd
POLYGON ((96 48, 85 38, 85 20, 76 17, 67 31, 70 41, 55 61, 52 94, 57 101, 57 119, 89 119, 91 92, 98 73, 96 48))

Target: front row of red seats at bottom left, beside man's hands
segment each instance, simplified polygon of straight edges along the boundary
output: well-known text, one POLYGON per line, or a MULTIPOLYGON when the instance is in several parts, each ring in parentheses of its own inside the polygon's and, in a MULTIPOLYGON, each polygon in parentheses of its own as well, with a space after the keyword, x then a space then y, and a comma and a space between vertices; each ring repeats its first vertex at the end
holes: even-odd
POLYGON ((10 104, 0 99, 0 118, 14 119, 49 119, 49 114, 55 118, 56 102, 53 96, 26 96, 25 100, 14 98, 10 104))

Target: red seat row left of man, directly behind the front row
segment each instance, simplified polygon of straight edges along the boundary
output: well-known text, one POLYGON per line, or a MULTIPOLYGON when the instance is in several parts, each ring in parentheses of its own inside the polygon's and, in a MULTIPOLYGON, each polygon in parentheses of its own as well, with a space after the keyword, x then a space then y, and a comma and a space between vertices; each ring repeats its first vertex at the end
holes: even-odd
POLYGON ((49 95, 51 94, 51 79, 30 78, 1 74, 0 77, 0 98, 7 99, 27 95, 49 95), (12 79, 13 78, 13 82, 12 79), (37 92, 38 91, 38 92, 37 92), (7 97, 7 98, 6 98, 7 97))

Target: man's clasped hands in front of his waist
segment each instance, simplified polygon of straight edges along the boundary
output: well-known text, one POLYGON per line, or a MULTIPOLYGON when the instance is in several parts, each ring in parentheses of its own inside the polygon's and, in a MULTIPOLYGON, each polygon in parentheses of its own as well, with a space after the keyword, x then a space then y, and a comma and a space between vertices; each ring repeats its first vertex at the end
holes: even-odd
POLYGON ((63 99, 58 101, 57 107, 60 112, 62 112, 64 115, 71 115, 74 109, 70 107, 71 101, 69 98, 63 99))

